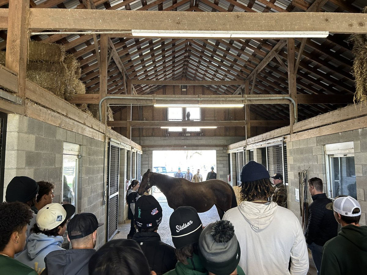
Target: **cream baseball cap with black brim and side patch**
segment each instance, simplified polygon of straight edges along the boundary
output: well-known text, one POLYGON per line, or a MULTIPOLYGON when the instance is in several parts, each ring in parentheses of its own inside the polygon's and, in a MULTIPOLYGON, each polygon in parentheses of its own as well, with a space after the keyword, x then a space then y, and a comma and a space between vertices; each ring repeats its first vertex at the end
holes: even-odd
POLYGON ((41 231, 58 227, 75 213, 75 206, 71 204, 49 203, 43 206, 38 213, 36 223, 41 231))

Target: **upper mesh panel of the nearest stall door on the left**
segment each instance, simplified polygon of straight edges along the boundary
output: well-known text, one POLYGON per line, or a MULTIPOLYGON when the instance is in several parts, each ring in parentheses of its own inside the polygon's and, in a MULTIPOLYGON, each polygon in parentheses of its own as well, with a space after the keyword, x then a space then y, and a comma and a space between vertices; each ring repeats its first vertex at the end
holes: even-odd
POLYGON ((109 195, 119 191, 120 148, 110 144, 108 150, 107 183, 109 195))

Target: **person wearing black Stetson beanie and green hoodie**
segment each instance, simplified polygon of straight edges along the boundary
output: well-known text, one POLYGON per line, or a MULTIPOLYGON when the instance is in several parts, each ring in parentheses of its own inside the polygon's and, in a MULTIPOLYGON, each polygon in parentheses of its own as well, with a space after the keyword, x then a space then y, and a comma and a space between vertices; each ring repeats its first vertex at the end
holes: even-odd
POLYGON ((203 224, 195 208, 180 206, 171 214, 170 230, 175 245, 177 264, 166 275, 207 275, 199 258, 199 236, 203 224))

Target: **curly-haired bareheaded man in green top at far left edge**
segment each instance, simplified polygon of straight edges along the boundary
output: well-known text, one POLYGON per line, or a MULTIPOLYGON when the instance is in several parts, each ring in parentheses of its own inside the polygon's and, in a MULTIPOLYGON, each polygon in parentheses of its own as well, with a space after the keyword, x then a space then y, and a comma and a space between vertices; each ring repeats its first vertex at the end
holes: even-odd
POLYGON ((25 246, 32 210, 22 202, 4 202, 0 213, 0 274, 37 275, 34 269, 14 260, 15 253, 25 246))

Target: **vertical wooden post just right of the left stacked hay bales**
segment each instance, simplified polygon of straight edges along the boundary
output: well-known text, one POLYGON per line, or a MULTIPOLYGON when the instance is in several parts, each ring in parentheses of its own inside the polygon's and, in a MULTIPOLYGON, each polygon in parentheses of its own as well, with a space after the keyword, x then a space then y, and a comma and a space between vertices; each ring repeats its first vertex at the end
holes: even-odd
MULTIPOLYGON (((101 34, 101 38, 99 39, 99 60, 101 64, 99 67, 101 68, 99 72, 99 100, 107 96, 107 52, 108 52, 108 36, 105 34, 101 34)), ((106 124, 106 111, 107 111, 107 104, 106 101, 102 103, 102 123, 106 124)), ((107 125, 107 124, 106 124, 107 125)))

